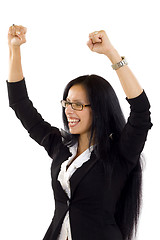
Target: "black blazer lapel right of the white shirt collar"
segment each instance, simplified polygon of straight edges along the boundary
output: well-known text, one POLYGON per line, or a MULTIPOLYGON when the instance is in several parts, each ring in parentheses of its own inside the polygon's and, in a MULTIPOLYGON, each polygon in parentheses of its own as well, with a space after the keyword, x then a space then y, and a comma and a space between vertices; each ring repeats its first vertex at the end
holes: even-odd
POLYGON ((84 178, 84 176, 89 172, 89 170, 94 166, 96 162, 96 155, 94 151, 92 151, 90 159, 73 173, 70 178, 71 198, 73 197, 74 192, 80 181, 84 178))

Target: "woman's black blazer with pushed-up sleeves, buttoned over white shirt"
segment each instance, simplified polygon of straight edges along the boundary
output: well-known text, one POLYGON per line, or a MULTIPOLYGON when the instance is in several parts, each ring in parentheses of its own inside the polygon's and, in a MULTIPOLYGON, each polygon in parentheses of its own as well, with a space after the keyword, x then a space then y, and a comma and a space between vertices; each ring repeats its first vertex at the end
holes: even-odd
POLYGON ((145 92, 127 99, 131 113, 118 142, 120 161, 115 164, 110 186, 101 161, 94 151, 70 179, 71 199, 57 180, 62 162, 71 156, 63 144, 61 132, 45 122, 28 98, 25 80, 9 83, 10 107, 31 138, 43 146, 52 158, 51 177, 55 198, 53 220, 43 240, 56 240, 69 210, 73 240, 122 240, 114 214, 128 174, 135 167, 151 128, 150 104, 145 92))

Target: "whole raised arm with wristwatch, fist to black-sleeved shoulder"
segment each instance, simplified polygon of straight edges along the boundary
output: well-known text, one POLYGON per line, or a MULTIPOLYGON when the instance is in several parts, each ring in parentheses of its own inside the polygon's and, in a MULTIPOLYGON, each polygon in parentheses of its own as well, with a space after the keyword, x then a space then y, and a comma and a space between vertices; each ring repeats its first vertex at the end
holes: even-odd
MULTIPOLYGON (((117 50, 110 43, 105 31, 91 33, 87 45, 93 52, 105 54, 112 64, 119 63, 122 60, 117 50)), ((116 72, 131 109, 118 142, 119 153, 126 162, 127 171, 130 172, 140 157, 148 130, 152 127, 149 111, 150 103, 127 65, 118 68, 116 72)))

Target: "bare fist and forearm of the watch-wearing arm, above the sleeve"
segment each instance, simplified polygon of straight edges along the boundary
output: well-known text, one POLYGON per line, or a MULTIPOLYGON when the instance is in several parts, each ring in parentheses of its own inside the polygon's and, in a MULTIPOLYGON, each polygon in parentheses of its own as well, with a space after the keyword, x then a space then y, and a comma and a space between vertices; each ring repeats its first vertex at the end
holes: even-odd
MULTIPOLYGON (((106 55, 112 64, 116 64, 122 60, 103 30, 89 34, 87 45, 93 52, 106 55)), ((135 98, 142 93, 143 89, 127 65, 117 69, 116 72, 128 99, 135 98)))

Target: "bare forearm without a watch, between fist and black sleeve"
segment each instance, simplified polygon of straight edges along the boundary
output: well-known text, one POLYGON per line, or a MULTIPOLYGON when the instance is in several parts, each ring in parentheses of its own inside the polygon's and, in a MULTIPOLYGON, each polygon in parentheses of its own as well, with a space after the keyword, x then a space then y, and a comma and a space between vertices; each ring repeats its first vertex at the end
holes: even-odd
POLYGON ((9 48, 9 82, 18 82, 23 79, 20 46, 9 48))

